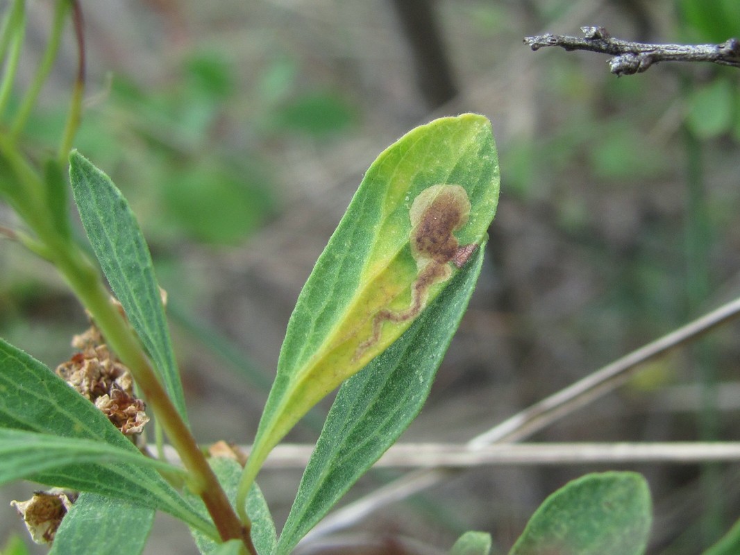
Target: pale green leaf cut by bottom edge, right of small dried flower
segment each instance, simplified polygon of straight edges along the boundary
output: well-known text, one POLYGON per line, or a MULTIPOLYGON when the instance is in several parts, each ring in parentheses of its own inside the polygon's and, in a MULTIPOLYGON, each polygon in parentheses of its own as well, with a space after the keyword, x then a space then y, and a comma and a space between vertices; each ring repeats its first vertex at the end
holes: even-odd
POLYGON ((144 551, 155 511, 98 494, 80 494, 64 515, 49 555, 136 555, 144 551))

